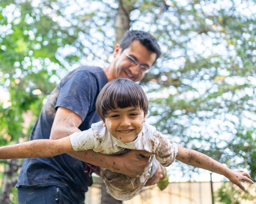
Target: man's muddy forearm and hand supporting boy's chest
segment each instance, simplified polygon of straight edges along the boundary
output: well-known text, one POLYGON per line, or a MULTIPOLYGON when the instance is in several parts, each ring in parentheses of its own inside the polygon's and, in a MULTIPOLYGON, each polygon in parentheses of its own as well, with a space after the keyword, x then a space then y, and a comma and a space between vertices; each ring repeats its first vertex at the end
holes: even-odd
POLYGON ((92 150, 69 152, 68 154, 84 162, 107 168, 113 172, 125 174, 127 176, 138 176, 145 170, 148 157, 142 157, 141 154, 146 151, 130 150, 121 155, 105 155, 92 150))

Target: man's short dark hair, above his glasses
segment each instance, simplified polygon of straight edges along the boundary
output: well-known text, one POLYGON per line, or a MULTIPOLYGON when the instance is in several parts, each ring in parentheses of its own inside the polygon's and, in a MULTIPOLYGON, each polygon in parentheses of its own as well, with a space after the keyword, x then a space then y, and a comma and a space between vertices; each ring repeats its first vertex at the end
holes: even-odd
POLYGON ((144 45, 148 50, 156 53, 156 59, 160 57, 161 50, 157 43, 157 40, 148 32, 139 31, 139 30, 128 30, 124 34, 120 47, 122 50, 128 48, 133 40, 139 40, 142 45, 144 45))

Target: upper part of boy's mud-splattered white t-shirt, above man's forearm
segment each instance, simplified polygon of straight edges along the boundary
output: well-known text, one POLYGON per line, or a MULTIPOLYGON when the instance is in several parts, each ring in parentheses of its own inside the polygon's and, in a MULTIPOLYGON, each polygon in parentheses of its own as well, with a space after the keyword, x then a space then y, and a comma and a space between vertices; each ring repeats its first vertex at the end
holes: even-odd
POLYGON ((122 143, 113 137, 107 128, 103 127, 101 121, 93 123, 89 130, 70 135, 70 142, 75 151, 92 149, 95 152, 109 155, 122 153, 120 151, 123 149, 145 150, 149 153, 146 156, 155 155, 163 166, 172 164, 178 151, 175 142, 146 123, 143 124, 143 129, 138 137, 129 143, 122 143))

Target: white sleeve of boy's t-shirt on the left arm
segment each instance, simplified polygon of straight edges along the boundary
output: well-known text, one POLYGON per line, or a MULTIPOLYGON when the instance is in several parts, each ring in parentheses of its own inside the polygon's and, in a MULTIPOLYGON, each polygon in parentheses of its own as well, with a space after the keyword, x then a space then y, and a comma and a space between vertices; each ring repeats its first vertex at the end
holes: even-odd
POLYGON ((70 135, 71 146, 75 151, 90 150, 95 147, 95 137, 92 129, 75 132, 70 135))

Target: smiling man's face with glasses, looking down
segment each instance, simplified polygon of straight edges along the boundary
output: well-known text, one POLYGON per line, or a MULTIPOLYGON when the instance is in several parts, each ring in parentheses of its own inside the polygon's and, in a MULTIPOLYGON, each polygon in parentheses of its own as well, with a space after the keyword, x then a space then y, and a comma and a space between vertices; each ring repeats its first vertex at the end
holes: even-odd
POLYGON ((140 81, 145 75, 146 70, 142 69, 140 65, 150 68, 156 61, 156 53, 149 51, 139 40, 134 40, 124 50, 120 47, 115 48, 113 56, 113 79, 127 78, 134 82, 140 81), (138 64, 132 63, 130 57, 138 64))

